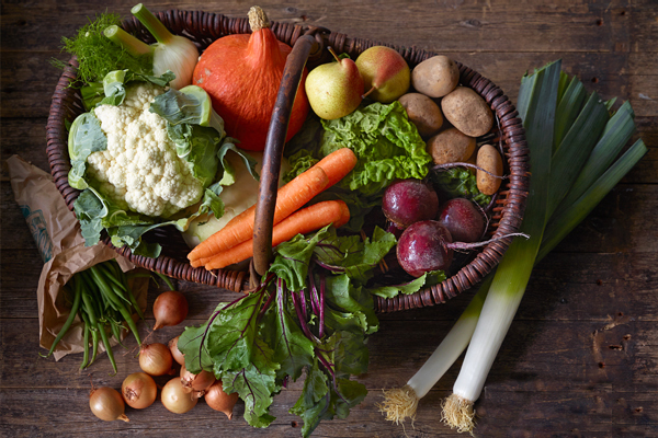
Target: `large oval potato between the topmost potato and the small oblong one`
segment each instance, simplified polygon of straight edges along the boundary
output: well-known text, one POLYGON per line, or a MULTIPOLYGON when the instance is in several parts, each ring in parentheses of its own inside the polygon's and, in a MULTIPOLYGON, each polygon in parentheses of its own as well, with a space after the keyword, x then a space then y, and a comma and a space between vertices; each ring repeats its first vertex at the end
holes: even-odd
POLYGON ((470 137, 484 136, 494 126, 494 113, 487 102, 466 87, 457 87, 443 97, 441 110, 455 128, 470 137))

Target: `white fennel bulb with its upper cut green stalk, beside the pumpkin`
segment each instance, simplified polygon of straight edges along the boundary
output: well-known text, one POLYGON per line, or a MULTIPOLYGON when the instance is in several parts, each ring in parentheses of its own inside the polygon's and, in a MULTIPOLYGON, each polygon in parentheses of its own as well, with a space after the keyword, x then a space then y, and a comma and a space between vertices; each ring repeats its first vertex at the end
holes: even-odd
POLYGON ((154 47, 154 74, 161 76, 168 70, 175 74, 170 87, 177 90, 192 83, 192 73, 198 61, 198 49, 184 36, 173 35, 141 3, 133 7, 133 14, 156 38, 154 47))

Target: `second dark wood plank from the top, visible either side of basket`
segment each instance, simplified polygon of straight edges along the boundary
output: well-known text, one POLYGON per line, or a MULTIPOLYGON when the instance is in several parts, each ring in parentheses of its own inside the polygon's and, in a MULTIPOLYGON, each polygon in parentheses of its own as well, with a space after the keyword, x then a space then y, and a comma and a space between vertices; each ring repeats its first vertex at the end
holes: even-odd
MULTIPOLYGON (((540 68, 549 61, 561 58, 565 71, 578 76, 590 92, 595 90, 603 99, 617 96, 621 101, 629 100, 638 117, 658 114, 658 100, 651 97, 658 95, 656 74, 650 73, 651 70, 656 71, 651 68, 655 64, 655 61, 654 64, 650 61, 655 58, 655 54, 651 53, 634 55, 636 64, 647 66, 643 67, 642 71, 631 70, 625 74, 620 74, 620 71, 624 71, 624 66, 628 64, 626 54, 449 53, 443 48, 436 50, 450 54, 455 60, 492 80, 506 91, 513 102, 517 100, 521 78, 529 69, 540 68)), ((16 68, 14 71, 2 70, 1 96, 4 103, 1 108, 2 117, 47 118, 49 101, 60 76, 59 70, 48 62, 57 56, 58 54, 55 51, 3 53, 8 65, 24 65, 24 67, 16 68)), ((656 129, 655 125, 649 128, 654 132, 656 129)))

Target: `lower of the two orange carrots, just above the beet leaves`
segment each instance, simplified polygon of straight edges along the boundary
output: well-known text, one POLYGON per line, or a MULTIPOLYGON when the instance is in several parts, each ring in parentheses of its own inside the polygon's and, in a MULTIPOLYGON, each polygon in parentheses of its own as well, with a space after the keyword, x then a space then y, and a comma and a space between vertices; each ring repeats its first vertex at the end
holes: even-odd
MULTIPOLYGON (((350 209, 342 200, 326 200, 303 208, 288 216, 272 229, 272 246, 291 240, 297 234, 306 234, 333 223, 338 228, 350 220, 350 209)), ((204 258, 205 268, 219 269, 253 256, 253 240, 204 258)))

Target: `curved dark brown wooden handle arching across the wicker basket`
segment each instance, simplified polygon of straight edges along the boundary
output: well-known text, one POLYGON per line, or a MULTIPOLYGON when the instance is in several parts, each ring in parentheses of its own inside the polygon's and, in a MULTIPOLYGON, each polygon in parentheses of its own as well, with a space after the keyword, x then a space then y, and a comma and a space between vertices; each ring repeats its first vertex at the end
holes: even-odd
POLYGON ((258 203, 253 222, 253 266, 259 275, 264 275, 270 268, 272 258, 272 227, 274 207, 279 189, 279 173, 281 158, 287 135, 291 112, 297 95, 304 67, 316 38, 306 34, 300 36, 287 56, 276 103, 270 119, 270 128, 265 140, 263 165, 260 176, 258 203))

